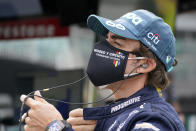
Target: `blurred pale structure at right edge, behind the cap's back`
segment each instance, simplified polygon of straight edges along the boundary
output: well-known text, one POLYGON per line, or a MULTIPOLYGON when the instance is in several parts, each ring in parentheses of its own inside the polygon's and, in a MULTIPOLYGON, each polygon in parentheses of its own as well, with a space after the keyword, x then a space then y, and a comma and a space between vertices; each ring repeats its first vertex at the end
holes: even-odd
POLYGON ((180 97, 194 97, 196 76, 196 11, 176 16, 178 65, 174 69, 174 87, 180 97))

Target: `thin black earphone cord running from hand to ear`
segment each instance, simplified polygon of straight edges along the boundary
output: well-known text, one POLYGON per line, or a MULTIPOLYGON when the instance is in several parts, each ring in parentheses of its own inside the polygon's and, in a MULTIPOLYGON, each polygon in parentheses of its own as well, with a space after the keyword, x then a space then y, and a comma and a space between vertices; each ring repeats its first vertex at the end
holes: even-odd
MULTIPOLYGON (((139 66, 136 66, 133 70, 130 71, 130 73, 128 74, 128 76, 126 76, 125 79, 127 78, 130 78, 130 74, 132 74, 137 68, 141 67, 141 65, 139 66)), ((47 91, 50 91, 50 90, 54 90, 54 89, 57 89, 57 88, 61 88, 61 87, 66 87, 66 86, 70 86, 70 85, 73 85, 73 84, 76 84, 78 82, 80 82, 81 80, 85 79, 87 77, 87 75, 85 75, 84 77, 82 77, 81 79, 77 80, 77 81, 74 81, 74 82, 71 82, 71 83, 68 83, 68 84, 62 84, 62 85, 57 85, 57 86, 54 86, 54 87, 51 87, 51 88, 46 88, 46 89, 42 89, 42 90, 37 90, 37 91, 40 91, 40 92, 47 92, 47 91)), ((40 97, 40 98, 43 98, 43 99, 46 99, 46 100, 49 100, 49 101, 55 101, 55 102, 62 102, 62 103, 65 103, 65 104, 70 104, 70 105, 88 105, 88 104, 95 104, 95 103, 99 103, 99 102, 102 102, 108 98, 110 98, 112 95, 114 95, 120 88, 121 86, 124 84, 125 81, 122 81, 120 83, 120 85, 116 88, 116 90, 111 93, 110 95, 108 95, 107 97, 105 98, 102 98, 100 100, 97 100, 97 101, 94 101, 94 102, 87 102, 87 103, 75 103, 75 102, 66 102, 66 101, 62 101, 62 100, 57 100, 57 99, 52 99, 52 98, 47 98, 47 97, 43 97, 43 96, 38 96, 38 95, 34 95, 35 91, 32 91, 30 92, 27 97, 24 99, 24 101, 22 102, 22 105, 21 105, 21 109, 20 109, 20 118, 19 118, 19 131, 22 131, 22 115, 23 115, 23 110, 24 110, 24 105, 25 105, 25 102, 27 101, 27 99, 29 97, 34 97, 34 96, 37 96, 37 97, 40 97)))

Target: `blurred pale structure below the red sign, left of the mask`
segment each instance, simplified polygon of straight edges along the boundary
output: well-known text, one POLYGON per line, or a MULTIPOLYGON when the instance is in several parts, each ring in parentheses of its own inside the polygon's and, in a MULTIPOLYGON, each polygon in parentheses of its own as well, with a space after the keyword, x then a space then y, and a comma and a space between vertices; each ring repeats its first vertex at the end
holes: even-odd
POLYGON ((0 57, 60 70, 85 69, 95 36, 73 25, 66 37, 0 41, 0 57))

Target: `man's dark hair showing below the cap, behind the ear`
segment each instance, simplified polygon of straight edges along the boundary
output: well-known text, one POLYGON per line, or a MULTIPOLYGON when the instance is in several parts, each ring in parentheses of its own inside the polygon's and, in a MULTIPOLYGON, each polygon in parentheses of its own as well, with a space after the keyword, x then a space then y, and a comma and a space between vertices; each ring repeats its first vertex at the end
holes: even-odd
POLYGON ((139 52, 142 56, 152 58, 156 62, 156 68, 148 74, 147 85, 155 88, 165 89, 170 81, 165 70, 164 64, 157 58, 157 56, 149 50, 146 46, 141 44, 139 52))

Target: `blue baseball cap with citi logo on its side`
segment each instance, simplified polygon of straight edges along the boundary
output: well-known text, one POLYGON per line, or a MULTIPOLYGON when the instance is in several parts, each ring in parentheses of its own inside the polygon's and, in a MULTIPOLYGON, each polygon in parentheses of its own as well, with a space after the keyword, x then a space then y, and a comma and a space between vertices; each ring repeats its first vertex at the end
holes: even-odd
POLYGON ((87 25, 103 36, 110 31, 125 38, 141 41, 162 61, 167 72, 173 69, 176 54, 175 37, 170 26, 155 14, 140 9, 116 20, 90 15, 87 25))

